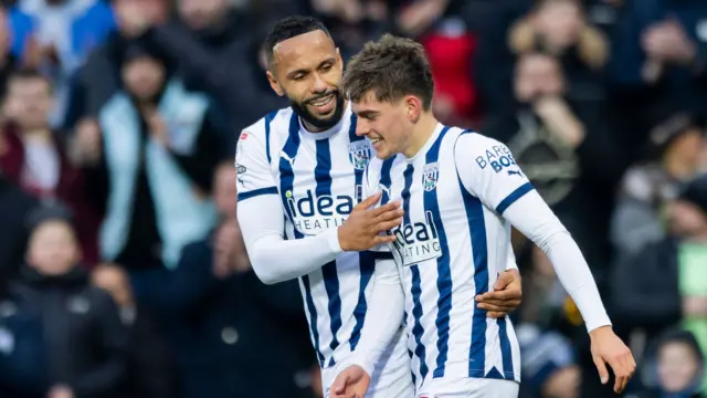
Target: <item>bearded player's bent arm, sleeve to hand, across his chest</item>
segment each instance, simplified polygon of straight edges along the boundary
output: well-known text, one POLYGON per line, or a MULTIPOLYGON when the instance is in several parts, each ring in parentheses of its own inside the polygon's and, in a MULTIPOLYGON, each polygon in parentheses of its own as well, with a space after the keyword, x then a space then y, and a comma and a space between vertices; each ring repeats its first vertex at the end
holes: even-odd
POLYGON ((334 261, 342 251, 367 250, 389 241, 388 237, 377 237, 376 231, 395 226, 400 217, 398 206, 366 211, 377 198, 357 206, 349 220, 338 229, 306 239, 286 240, 285 213, 265 144, 261 136, 244 133, 235 157, 238 218, 253 270, 263 283, 304 276, 334 261))

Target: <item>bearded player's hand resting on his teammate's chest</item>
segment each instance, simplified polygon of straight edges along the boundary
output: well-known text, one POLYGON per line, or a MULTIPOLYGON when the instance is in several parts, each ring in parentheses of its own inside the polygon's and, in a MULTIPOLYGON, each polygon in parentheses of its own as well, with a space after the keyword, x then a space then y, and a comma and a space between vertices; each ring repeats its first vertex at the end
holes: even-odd
POLYGON ((381 192, 376 192, 358 203, 348 219, 338 228, 339 245, 344 251, 363 251, 379 244, 392 243, 395 237, 381 235, 402 223, 400 202, 390 202, 371 209, 381 192))

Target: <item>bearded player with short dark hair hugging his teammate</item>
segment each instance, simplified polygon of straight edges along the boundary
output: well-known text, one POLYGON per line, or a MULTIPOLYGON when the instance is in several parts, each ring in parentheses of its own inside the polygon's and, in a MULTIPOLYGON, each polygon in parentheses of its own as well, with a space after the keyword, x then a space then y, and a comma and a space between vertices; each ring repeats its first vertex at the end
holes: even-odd
MULTIPOLYGON (((402 209, 395 202, 369 209, 380 195, 362 197, 372 150, 356 135, 357 117, 339 87, 344 63, 326 28, 313 18, 291 17, 274 27, 266 45, 267 78, 292 106, 240 135, 238 217, 257 276, 268 284, 299 279, 328 396, 363 325, 379 321, 367 311, 373 268, 394 261, 390 252, 369 249, 391 241, 380 232, 401 222, 402 209)), ((499 296, 484 305, 505 314, 519 304, 520 287, 517 271, 502 277, 499 296)), ((369 397, 413 394, 402 316, 398 322, 369 397)))

